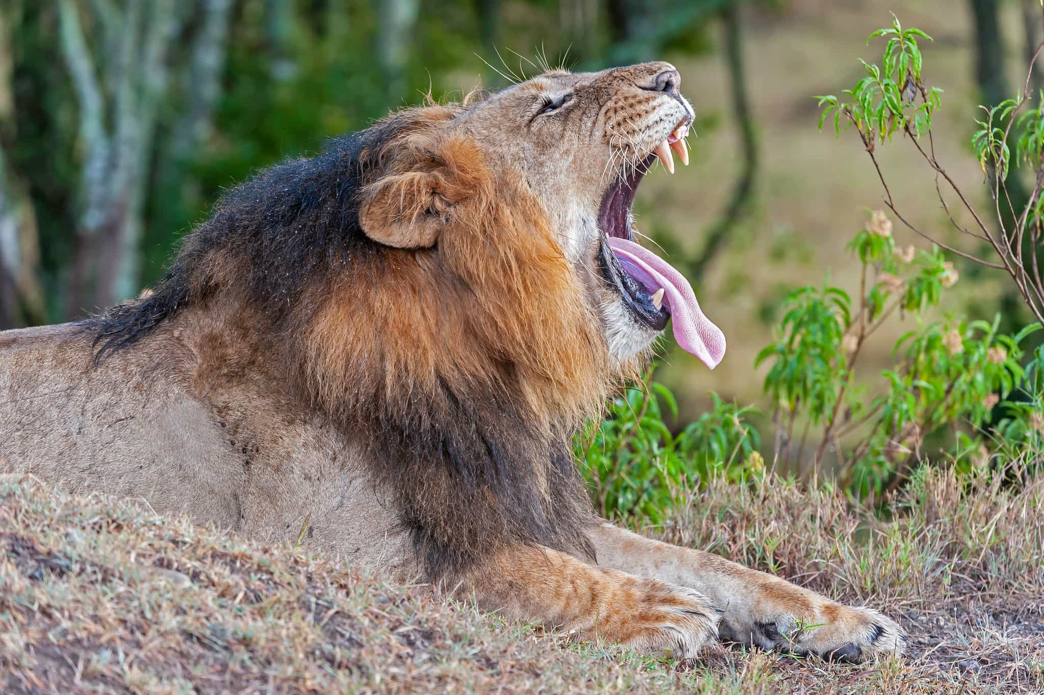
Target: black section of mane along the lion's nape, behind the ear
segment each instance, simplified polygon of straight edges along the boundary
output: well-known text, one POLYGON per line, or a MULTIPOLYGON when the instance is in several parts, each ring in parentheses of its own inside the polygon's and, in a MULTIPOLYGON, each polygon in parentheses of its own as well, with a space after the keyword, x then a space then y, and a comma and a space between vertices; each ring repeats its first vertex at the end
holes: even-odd
POLYGON ((210 218, 183 239, 150 293, 84 322, 94 334, 95 359, 141 340, 188 303, 205 298, 214 279, 198 275, 217 249, 248 261, 245 289, 278 331, 316 266, 334 267, 375 250, 359 230, 358 193, 371 173, 361 160, 399 127, 392 118, 342 136, 314 158, 277 164, 227 193, 210 218))

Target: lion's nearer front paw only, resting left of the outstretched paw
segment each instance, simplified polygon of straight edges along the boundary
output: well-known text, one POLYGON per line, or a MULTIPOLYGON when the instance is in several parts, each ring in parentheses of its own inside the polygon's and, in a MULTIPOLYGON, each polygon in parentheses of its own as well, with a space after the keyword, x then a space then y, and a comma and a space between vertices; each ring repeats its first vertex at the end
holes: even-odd
POLYGON ((622 589, 611 609, 599 616, 597 634, 678 660, 691 658, 717 640, 721 614, 703 594, 656 579, 635 580, 622 589))

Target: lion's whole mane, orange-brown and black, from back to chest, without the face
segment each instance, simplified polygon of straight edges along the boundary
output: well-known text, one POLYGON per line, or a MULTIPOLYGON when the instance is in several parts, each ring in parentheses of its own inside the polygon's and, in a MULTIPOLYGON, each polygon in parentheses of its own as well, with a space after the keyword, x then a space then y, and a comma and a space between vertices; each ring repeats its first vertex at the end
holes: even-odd
POLYGON ((85 325, 103 367, 190 307, 234 307, 288 403, 362 445, 432 576, 509 544, 589 552, 571 438, 612 385, 547 211, 448 135, 461 109, 401 112, 261 172, 151 294, 85 325), (447 220, 430 248, 363 232, 424 214, 447 220))

